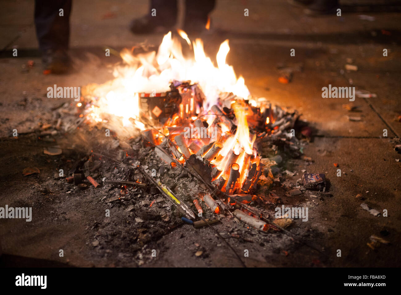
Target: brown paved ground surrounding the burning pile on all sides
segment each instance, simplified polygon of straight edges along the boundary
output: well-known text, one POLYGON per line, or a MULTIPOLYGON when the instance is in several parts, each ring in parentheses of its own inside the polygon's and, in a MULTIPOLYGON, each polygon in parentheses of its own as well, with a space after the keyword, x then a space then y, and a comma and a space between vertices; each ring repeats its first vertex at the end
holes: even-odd
MULTIPOLYGON (((152 208, 141 205, 143 199, 157 198, 149 192, 144 196, 132 192, 136 209, 126 211, 128 205, 102 200, 113 193, 108 187, 81 191, 64 180, 54 179, 58 169, 69 167, 72 163, 68 161, 76 161, 81 154, 63 150, 60 156, 44 155, 43 146, 49 144, 44 138, 38 139, 35 134, 10 137, 14 128, 22 133, 53 122, 50 109, 63 100, 46 97, 49 85, 85 85, 111 79, 111 68, 107 66, 115 60, 105 60, 103 46, 119 49, 145 40, 158 45, 162 35, 133 37, 127 30, 129 20, 146 12, 146 5, 141 4, 134 15, 132 1, 98 1, 95 7, 85 1, 77 2, 71 19, 71 55, 76 71, 71 75, 43 75, 40 59, 35 57, 32 3, 18 2, 20 5, 7 2, 1 12, 1 47, 19 32, 21 36, 2 52, 0 59, 0 207, 32 207, 33 218, 32 222, 1 220, 2 265, 239 266, 233 253, 210 228, 174 227, 178 224, 177 214, 164 201, 152 208), (88 9, 90 14, 85 13, 88 9), (102 19, 110 11, 115 18, 102 19), (13 45, 21 49, 18 57, 11 57, 13 45), (26 71, 22 65, 28 60, 35 65, 26 71), (23 177, 26 167, 38 167, 41 173, 23 177), (44 187, 49 189, 45 194, 44 187), (104 217, 105 209, 111 210, 110 218, 104 217), (163 210, 169 216, 168 222, 158 217, 163 210), (138 224, 136 217, 145 220, 146 226, 138 224), (93 246, 95 240, 99 240, 99 245, 93 246), (64 250, 64 257, 59 257, 59 249, 64 250), (152 249, 156 249, 156 258, 151 257, 152 249), (198 250, 203 251, 199 257, 194 255, 198 250)), ((346 2, 349 3, 352 4, 346 2)), ((227 240, 240 256, 244 249, 249 250, 249 257, 243 257, 243 261, 250 267, 399 266, 401 164, 395 159, 401 155, 393 150, 391 138, 401 134, 401 123, 395 120, 401 115, 401 14, 397 10, 350 11, 341 18, 311 18, 286 2, 262 6, 249 1, 245 5, 249 7, 240 1, 218 2, 212 14, 215 31, 205 36, 205 50, 215 56, 219 43, 229 38, 227 63, 244 76, 251 93, 297 109, 302 119, 316 128, 317 136, 304 148, 305 155, 314 162, 307 165, 300 159, 288 160, 284 168, 297 171, 298 175, 285 176, 286 184, 294 185, 302 169, 326 173, 333 197, 316 199, 304 193, 291 198, 283 196, 282 201, 286 205, 307 204, 308 222, 295 220, 289 230, 317 245, 325 255, 281 233, 264 236, 232 218, 223 218, 215 227, 221 233, 240 236, 227 240), (249 8, 250 16, 242 20, 244 7, 249 8), (375 16, 375 20, 362 20, 359 14, 375 16), (295 57, 289 55, 292 48, 296 49, 295 57), (389 51, 387 57, 383 57, 384 48, 389 51), (358 71, 341 71, 347 58, 358 65, 358 71), (277 63, 302 63, 304 70, 295 72, 291 83, 281 84, 277 81, 277 63), (349 79, 356 89, 377 94, 377 98, 356 98, 354 103, 361 112, 350 113, 342 108, 347 100, 321 98, 322 87, 349 86, 349 79), (346 116, 361 116, 362 120, 350 122, 346 116), (385 128, 387 138, 383 138, 385 128), (333 163, 338 163, 346 174, 336 177, 338 168, 333 163), (365 200, 355 199, 358 193, 365 200), (363 202, 380 212, 387 209, 388 217, 369 214, 360 208, 363 202), (376 250, 367 246, 371 235, 387 232, 383 238, 390 244, 382 244, 376 250), (336 256, 337 249, 342 251, 341 257, 336 256)), ((58 140, 66 142, 66 138, 58 140)))

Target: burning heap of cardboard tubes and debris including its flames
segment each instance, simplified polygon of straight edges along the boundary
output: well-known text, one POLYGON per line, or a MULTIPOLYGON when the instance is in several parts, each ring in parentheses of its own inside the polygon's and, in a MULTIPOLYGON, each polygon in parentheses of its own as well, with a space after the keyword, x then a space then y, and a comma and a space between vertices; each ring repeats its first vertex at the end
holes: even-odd
POLYGON ((201 40, 188 45, 193 47, 193 59, 184 58, 180 42, 171 33, 164 36, 157 53, 143 48, 123 51, 127 65, 115 69, 114 80, 86 87, 77 104, 81 117, 91 130, 106 128, 106 136, 111 132, 118 140, 114 150, 118 145, 122 149, 117 157, 91 153, 67 181, 78 184, 85 174, 95 187, 95 179, 120 185, 120 193, 107 202, 146 190, 149 183, 156 189, 152 194, 159 191, 172 201, 188 222, 197 214, 210 224, 213 215, 209 214, 228 213, 266 231, 271 225, 263 216, 268 214, 245 204, 267 202, 257 193, 257 184, 268 190, 277 181, 271 171, 276 162, 269 157, 279 147, 292 157, 302 154, 294 130, 299 114, 249 95, 244 79, 237 79, 225 63, 228 40, 217 53, 218 67, 206 57, 201 40), (95 173, 105 160, 124 172, 95 173), (190 181, 186 193, 181 179, 184 186, 190 181), (205 213, 205 205, 210 213, 205 213))

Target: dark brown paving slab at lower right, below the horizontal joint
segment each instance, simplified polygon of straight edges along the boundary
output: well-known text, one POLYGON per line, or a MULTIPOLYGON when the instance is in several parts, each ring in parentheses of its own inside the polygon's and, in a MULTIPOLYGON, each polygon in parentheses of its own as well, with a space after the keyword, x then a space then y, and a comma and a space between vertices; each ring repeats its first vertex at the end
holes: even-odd
POLYGON ((312 227, 320 228, 324 233, 322 240, 330 245, 332 255, 337 249, 342 250, 341 258, 333 258, 334 265, 399 265, 396 245, 401 237, 401 165, 395 161, 399 154, 393 151, 389 139, 316 138, 314 144, 306 147, 305 153, 313 158, 314 163, 305 165, 298 162, 297 168, 306 169, 308 173, 325 173, 330 180, 333 197, 325 197, 309 214, 313 217, 310 219, 312 227), (338 167, 334 163, 338 163, 338 167), (337 169, 341 169, 341 177, 337 176, 337 169), (358 193, 363 195, 363 200, 355 198, 358 193), (369 214, 360 207, 361 203, 375 208, 381 216, 369 214), (383 217, 384 209, 388 210, 388 217, 383 217), (328 228, 333 231, 328 231, 328 228), (391 245, 371 250, 367 246, 369 237, 380 236, 383 230, 390 232, 385 238, 391 240, 391 245))

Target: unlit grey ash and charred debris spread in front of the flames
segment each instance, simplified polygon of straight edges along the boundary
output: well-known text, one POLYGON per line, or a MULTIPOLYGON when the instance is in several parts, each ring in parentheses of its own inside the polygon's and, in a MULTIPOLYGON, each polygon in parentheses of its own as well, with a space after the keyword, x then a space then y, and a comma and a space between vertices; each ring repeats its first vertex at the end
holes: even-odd
MULTIPOLYGON (((288 118, 296 114, 282 112, 283 117, 288 118)), ((88 194, 106 211, 110 210, 112 216, 119 212, 119 218, 109 218, 106 212, 103 222, 98 220, 87 225, 92 237, 88 241, 91 250, 95 249, 104 258, 113 257, 117 265, 146 263, 150 258, 145 253, 158 249, 162 238, 178 228, 201 231, 209 239, 215 235, 226 241, 232 238, 229 240, 233 245, 246 241, 264 244, 275 236, 277 241, 286 240, 290 248, 293 241, 289 237, 283 238, 279 232, 294 222, 289 218, 276 219, 275 208, 282 204, 282 197, 294 195, 294 189, 298 189, 294 187, 305 190, 302 183, 294 185, 283 177, 292 173, 284 168, 287 159, 302 157, 309 160, 303 157, 302 146, 308 142, 310 134, 298 131, 308 128, 305 126, 305 122, 294 120, 283 129, 281 136, 265 136, 266 133, 258 136, 255 146, 258 146, 260 163, 270 165, 263 169, 249 194, 227 196, 219 189, 213 189, 210 176, 203 175, 200 180, 196 175, 202 174, 202 167, 207 165, 192 155, 182 166, 171 152, 168 140, 155 146, 144 133, 128 139, 121 139, 113 132, 111 136, 105 136, 100 124, 97 128, 81 124, 74 134, 70 134, 85 140, 76 142, 74 153, 63 157, 69 167, 68 175, 56 178, 64 189, 69 190, 67 193, 88 194), (297 130, 299 138, 286 136, 287 129, 291 128, 297 130), (274 165, 275 162, 278 165, 274 165), (196 166, 198 169, 194 169, 196 166), (171 195, 181 204, 178 205, 171 195), (193 216, 183 205, 193 212, 193 216), (214 205, 219 210, 215 210, 214 205), (222 224, 225 230, 215 233, 207 228, 207 224, 222 224)), ((219 243, 225 246, 223 241, 219 243)), ((206 258, 207 249, 201 248, 196 246, 194 251, 203 252, 199 255, 206 258)))

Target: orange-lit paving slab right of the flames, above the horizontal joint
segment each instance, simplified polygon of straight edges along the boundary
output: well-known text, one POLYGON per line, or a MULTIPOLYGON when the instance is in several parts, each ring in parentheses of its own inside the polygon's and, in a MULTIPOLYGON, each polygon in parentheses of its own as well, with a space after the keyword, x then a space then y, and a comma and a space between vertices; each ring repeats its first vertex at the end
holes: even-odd
MULTIPOLYGON (((245 83, 251 93, 257 97, 266 97, 274 104, 295 108, 302 113, 302 118, 313 122, 320 134, 328 136, 383 136, 383 129, 387 125, 381 120, 377 113, 362 98, 355 98, 352 102, 358 107, 358 111, 349 112, 343 105, 350 104, 349 98, 322 98, 322 87, 356 87, 356 90, 371 90, 369 81, 376 80, 367 67, 360 69, 361 73, 367 71, 362 77, 354 73, 342 73, 346 58, 358 58, 360 50, 354 47, 336 46, 337 53, 330 53, 333 47, 315 46, 310 49, 296 47, 296 56, 290 57, 289 46, 267 46, 267 45, 240 45, 233 42, 227 62, 234 66, 236 73, 245 77, 245 83), (250 58, 252 56, 252 58, 250 58), (278 82, 281 76, 276 69, 277 65, 296 67, 303 65, 302 72, 294 71, 293 79, 288 84, 278 82), (353 85, 348 78, 353 77, 353 85), (359 82, 360 85, 358 84, 359 82), (368 84, 368 85, 367 85, 368 84), (350 121, 348 117, 360 118, 360 122, 350 121)), ((394 49, 397 52, 398 48, 394 49)), ((354 62, 358 64, 358 62, 354 62)), ((392 67, 396 67, 398 61, 393 61, 392 67)), ((375 73, 385 74, 385 66, 376 66, 375 73)), ((393 81, 399 77, 394 70, 393 81)), ((379 85, 378 85, 379 87, 379 85)), ((387 86, 386 86, 387 87, 387 86)), ((395 86, 399 89, 399 86, 395 86)), ((398 91, 398 90, 397 90, 398 91)), ((383 92, 383 87, 381 87, 383 92)), ((390 111, 388 117, 395 117, 399 100, 393 100, 391 106, 395 108, 390 111)), ((387 111, 391 109, 387 108, 387 111)), ((401 125, 401 124, 399 124, 401 125)), ((398 125, 398 126, 399 126, 398 125)), ((388 129, 388 128, 387 128, 388 129)), ((394 136, 389 130, 389 136, 394 136)))

